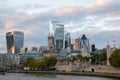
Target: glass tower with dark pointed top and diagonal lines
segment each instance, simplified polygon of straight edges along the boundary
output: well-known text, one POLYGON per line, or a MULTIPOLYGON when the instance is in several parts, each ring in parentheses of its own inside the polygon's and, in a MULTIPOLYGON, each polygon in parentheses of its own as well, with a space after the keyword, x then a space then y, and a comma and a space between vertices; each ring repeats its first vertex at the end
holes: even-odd
POLYGON ((83 34, 81 37, 81 53, 82 56, 90 56, 91 53, 91 43, 90 40, 83 34))

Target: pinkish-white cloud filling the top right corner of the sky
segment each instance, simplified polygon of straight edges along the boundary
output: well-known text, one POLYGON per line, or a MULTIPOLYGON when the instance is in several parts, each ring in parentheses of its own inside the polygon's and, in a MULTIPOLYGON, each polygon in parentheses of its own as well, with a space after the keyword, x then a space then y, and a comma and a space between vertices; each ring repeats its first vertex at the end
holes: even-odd
POLYGON ((116 15, 119 13, 120 9, 119 0, 98 0, 93 5, 89 6, 86 9, 87 13, 90 14, 113 14, 116 15))

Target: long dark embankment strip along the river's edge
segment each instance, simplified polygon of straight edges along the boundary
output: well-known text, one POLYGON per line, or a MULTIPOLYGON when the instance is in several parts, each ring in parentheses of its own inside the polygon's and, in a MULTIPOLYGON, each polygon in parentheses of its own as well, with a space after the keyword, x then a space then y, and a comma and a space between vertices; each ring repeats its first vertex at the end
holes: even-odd
POLYGON ((117 74, 117 73, 101 73, 101 72, 7 71, 7 73, 61 74, 61 75, 94 76, 94 77, 107 77, 107 78, 118 78, 118 79, 120 79, 120 74, 117 74))

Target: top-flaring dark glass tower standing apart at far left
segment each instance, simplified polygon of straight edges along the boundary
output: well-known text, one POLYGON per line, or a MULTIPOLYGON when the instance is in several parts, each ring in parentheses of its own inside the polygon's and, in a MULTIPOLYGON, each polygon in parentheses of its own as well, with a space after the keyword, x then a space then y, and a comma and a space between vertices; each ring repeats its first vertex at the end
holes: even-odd
POLYGON ((24 44, 24 33, 21 31, 13 31, 6 33, 7 52, 10 54, 20 53, 20 49, 24 44))

